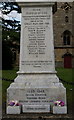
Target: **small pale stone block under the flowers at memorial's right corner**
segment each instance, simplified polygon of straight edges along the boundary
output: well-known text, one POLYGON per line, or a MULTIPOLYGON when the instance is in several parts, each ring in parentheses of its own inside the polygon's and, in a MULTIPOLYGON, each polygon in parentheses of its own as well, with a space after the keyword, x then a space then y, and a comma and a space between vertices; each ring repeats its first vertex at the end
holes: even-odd
POLYGON ((67 114, 67 106, 53 106, 53 114, 67 114))

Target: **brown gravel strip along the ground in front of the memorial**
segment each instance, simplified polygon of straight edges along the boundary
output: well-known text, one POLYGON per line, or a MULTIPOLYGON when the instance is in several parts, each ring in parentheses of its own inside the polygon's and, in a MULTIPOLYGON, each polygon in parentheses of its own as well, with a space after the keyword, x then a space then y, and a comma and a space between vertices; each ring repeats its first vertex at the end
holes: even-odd
POLYGON ((3 115, 2 120, 64 120, 64 119, 72 119, 71 114, 66 115, 53 115, 50 113, 25 113, 20 115, 3 115), (10 119, 9 119, 10 118, 10 119), (62 119, 63 118, 63 119, 62 119))

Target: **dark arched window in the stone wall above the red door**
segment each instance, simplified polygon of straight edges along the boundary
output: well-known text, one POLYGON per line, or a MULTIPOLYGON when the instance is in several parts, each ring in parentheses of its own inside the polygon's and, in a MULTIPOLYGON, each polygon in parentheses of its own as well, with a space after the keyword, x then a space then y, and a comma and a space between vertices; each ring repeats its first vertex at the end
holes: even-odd
POLYGON ((63 44, 70 45, 71 32, 66 30, 63 32, 63 44))

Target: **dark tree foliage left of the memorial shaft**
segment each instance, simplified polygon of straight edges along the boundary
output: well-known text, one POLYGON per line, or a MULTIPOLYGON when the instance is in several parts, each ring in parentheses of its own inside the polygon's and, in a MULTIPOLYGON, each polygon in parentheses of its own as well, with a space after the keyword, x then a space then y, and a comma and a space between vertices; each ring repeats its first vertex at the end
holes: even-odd
MULTIPOLYGON (((7 15, 11 11, 16 10, 21 12, 20 7, 16 2, 1 2, 1 11, 7 15)), ((13 19, 2 19, 2 69, 11 69, 13 64, 12 50, 17 49, 19 51, 20 41, 20 21, 13 19)), ((14 60, 15 62, 15 60, 14 60)))

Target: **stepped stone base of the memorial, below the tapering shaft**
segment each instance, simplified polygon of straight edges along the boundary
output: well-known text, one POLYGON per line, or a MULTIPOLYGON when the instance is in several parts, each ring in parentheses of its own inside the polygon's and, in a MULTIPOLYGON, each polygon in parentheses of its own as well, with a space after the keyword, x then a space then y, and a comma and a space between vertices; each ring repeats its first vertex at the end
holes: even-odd
POLYGON ((10 100, 18 100, 23 112, 50 112, 56 100, 66 105, 66 89, 55 74, 22 74, 7 89, 7 102, 10 100))

